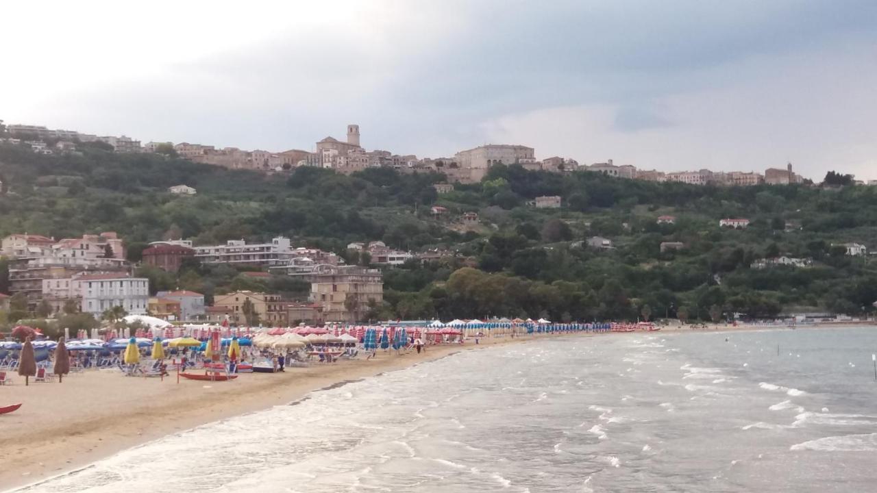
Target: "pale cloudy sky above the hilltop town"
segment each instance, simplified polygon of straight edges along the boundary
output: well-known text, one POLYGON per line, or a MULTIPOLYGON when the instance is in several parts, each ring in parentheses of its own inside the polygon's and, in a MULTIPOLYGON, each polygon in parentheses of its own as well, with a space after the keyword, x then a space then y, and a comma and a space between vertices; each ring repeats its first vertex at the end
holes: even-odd
POLYGON ((873 0, 17 2, 0 119, 147 142, 877 179, 873 0))

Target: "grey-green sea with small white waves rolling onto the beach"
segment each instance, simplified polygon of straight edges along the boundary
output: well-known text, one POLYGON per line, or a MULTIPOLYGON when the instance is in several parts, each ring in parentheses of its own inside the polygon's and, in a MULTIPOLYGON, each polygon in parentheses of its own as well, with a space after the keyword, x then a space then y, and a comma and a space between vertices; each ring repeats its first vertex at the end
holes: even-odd
POLYGON ((877 491, 873 353, 869 327, 485 347, 17 491, 877 491))

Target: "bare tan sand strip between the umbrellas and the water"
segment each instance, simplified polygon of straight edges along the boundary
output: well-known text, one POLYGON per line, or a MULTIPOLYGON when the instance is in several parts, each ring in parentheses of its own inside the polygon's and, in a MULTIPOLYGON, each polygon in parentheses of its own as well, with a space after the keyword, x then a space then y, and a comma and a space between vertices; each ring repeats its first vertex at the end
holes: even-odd
MULTIPOLYGON (((797 328, 844 328, 873 324, 809 324, 797 328)), ((742 332, 789 330, 779 325, 719 325, 693 328, 670 325, 636 334, 742 332)), ((612 334, 613 332, 608 332, 612 334)), ((557 337, 593 337, 594 332, 558 332, 481 338, 475 345, 427 347, 423 354, 381 354, 308 368, 287 368, 282 374, 243 374, 235 382, 170 382, 156 378, 125 377, 114 370, 68 375, 65 382, 15 384, 0 389, 4 402, 23 403, 22 409, 0 417, 0 491, 11 491, 88 468, 121 450, 139 447, 168 435, 226 418, 251 414, 275 405, 295 405, 311 393, 349 382, 411 368, 462 351, 524 344, 557 337), (243 383, 241 383, 243 382, 243 383)))

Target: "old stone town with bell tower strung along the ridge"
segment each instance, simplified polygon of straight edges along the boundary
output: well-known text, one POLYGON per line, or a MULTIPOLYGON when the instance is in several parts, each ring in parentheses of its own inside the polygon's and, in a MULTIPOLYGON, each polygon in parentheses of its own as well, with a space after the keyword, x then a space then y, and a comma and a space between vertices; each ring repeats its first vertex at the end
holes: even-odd
MULTIPOLYGON (((0 124, 2 124, 0 120, 0 124)), ((237 147, 209 146, 189 142, 147 142, 120 136, 97 136, 69 130, 53 130, 40 125, 5 125, 10 137, 6 141, 31 146, 33 152, 41 154, 75 151, 75 142, 101 142, 112 150, 123 154, 173 154, 190 161, 202 162, 230 169, 252 169, 265 173, 282 173, 303 166, 328 168, 344 175, 350 175, 366 168, 393 168, 400 173, 438 172, 446 175, 448 182, 475 183, 487 174, 488 168, 495 164, 520 164, 531 171, 571 173, 576 170, 602 173, 617 178, 645 180, 651 182, 681 182, 692 185, 753 186, 762 183, 770 185, 802 183, 804 178, 794 172, 792 164, 785 168, 766 168, 764 173, 755 171, 719 172, 709 169, 696 171, 664 172, 638 169, 633 165, 616 165, 612 160, 579 163, 574 159, 552 156, 544 159, 536 157, 533 147, 486 144, 466 149, 452 157, 417 158, 414 154, 394 154, 384 150, 367 150, 361 145, 360 126, 347 125, 346 139, 327 136, 320 139, 314 151, 289 149, 282 152, 264 150, 247 151, 237 147)), ((877 181, 874 181, 877 182, 877 181)))

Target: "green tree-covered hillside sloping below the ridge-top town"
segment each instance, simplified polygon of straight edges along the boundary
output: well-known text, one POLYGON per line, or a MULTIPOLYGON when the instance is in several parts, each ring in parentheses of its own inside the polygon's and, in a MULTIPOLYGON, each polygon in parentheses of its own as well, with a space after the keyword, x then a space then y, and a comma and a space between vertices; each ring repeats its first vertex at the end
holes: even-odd
MULTIPOLYGON (((0 180, 0 236, 115 231, 132 261, 157 239, 277 235, 349 263, 369 260, 348 252, 351 242, 420 253, 384 269, 385 303, 369 318, 855 315, 877 301, 877 267, 851 248, 877 247, 877 187, 696 186, 497 165, 481 182, 439 194, 438 174, 303 167, 264 175, 94 144, 53 155, 0 144, 0 180), (176 185, 197 193, 170 193, 176 185), (748 223, 723 227, 722 219, 748 223)), ((228 267, 140 274, 153 290, 199 290, 208 300, 229 289, 307 291, 228 267)))

